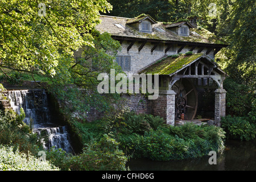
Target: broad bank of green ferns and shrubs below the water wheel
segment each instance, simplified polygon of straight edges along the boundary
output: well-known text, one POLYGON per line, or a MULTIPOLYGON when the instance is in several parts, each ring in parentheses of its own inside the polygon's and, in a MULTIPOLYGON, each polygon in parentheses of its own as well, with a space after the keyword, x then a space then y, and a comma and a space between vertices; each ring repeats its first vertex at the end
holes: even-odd
POLYGON ((224 134, 220 127, 188 123, 184 126, 170 126, 169 132, 158 128, 146 131, 144 135, 121 134, 118 141, 126 155, 133 158, 188 159, 208 155, 212 150, 222 151, 224 134))

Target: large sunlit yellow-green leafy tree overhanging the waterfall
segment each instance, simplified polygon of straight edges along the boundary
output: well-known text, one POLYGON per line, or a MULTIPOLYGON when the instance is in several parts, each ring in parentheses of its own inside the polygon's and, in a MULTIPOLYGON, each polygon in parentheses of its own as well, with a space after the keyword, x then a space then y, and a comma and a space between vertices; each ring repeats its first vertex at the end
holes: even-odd
POLYGON ((48 90, 70 111, 79 107, 86 113, 99 102, 105 106, 89 90, 93 93, 100 71, 116 67, 119 43, 94 30, 100 12, 111 9, 106 0, 1 1, 0 68, 47 77, 48 90), (84 53, 77 60, 73 53, 79 48, 84 53), (102 69, 92 71, 92 59, 102 69))

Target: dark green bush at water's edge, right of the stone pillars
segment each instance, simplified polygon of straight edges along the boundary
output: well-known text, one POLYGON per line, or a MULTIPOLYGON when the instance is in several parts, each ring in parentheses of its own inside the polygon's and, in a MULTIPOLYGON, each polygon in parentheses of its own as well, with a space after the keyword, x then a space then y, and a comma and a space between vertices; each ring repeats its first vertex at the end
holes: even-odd
POLYGON ((221 127, 226 131, 227 138, 240 140, 254 140, 256 125, 247 121, 247 117, 232 117, 228 115, 221 119, 221 127))

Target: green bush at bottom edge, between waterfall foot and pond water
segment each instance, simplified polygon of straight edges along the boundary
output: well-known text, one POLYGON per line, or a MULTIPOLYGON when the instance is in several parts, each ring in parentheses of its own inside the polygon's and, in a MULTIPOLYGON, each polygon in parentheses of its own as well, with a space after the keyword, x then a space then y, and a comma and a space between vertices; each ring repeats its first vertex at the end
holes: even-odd
POLYGON ((127 158, 118 146, 118 142, 105 134, 100 141, 88 144, 79 155, 71 156, 52 148, 47 153, 47 160, 62 170, 125 170, 127 158))

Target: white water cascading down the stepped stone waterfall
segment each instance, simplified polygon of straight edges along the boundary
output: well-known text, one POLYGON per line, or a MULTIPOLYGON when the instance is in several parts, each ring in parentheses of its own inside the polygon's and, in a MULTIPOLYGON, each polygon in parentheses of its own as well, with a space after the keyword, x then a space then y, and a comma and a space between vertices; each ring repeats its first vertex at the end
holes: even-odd
POLYGON ((53 146, 62 148, 66 152, 72 152, 69 134, 66 126, 56 126, 49 111, 47 94, 42 89, 35 90, 10 90, 7 91, 11 107, 20 114, 20 108, 24 109, 26 118, 24 122, 33 126, 33 132, 41 136, 47 135, 48 141, 44 141, 44 148, 53 146))

